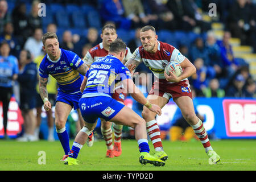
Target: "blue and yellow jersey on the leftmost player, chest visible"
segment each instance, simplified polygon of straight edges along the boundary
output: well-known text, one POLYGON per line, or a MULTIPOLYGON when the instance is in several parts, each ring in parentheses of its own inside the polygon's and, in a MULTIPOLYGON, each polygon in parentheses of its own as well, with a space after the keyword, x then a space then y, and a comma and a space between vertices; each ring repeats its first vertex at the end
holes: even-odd
POLYGON ((48 55, 44 57, 39 66, 39 75, 48 78, 51 75, 59 85, 59 91, 69 94, 80 92, 84 76, 77 72, 84 63, 76 53, 60 48, 60 58, 52 61, 48 55))

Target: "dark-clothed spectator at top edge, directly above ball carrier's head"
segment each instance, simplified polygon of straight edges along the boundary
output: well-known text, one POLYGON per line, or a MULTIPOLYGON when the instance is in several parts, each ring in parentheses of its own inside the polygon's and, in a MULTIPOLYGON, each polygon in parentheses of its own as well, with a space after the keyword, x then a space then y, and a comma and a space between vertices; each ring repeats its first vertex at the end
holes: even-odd
POLYGON ((149 0, 145 2, 148 2, 152 15, 157 16, 159 29, 176 30, 174 14, 166 6, 166 0, 149 0))

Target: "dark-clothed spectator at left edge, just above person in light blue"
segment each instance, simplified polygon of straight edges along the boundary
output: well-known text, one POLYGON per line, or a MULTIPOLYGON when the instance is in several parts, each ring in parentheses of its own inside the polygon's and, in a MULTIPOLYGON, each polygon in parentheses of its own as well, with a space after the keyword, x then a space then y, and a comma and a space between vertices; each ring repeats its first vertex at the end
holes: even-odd
POLYGON ((10 54, 14 56, 18 56, 21 47, 16 36, 13 35, 13 32, 14 32, 13 23, 11 22, 6 23, 5 28, 3 30, 3 34, 0 36, 0 42, 5 40, 7 43, 9 43, 9 46, 11 48, 10 54))

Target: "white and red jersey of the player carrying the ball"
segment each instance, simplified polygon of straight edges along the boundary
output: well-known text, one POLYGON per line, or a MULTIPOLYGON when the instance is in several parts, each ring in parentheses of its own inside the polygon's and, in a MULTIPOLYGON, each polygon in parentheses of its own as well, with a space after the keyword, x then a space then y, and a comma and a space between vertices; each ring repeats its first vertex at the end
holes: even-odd
MULTIPOLYGON (((166 65, 170 61, 181 63, 185 60, 185 56, 183 56, 178 49, 171 46, 170 44, 160 41, 158 41, 158 50, 154 54, 145 51, 143 46, 140 46, 133 52, 131 58, 139 62, 143 61, 146 67, 148 67, 152 73, 154 73, 159 82, 167 83, 173 82, 168 82, 166 77, 164 77, 164 68, 166 68, 166 65)), ((184 80, 187 80, 187 78, 184 80)))

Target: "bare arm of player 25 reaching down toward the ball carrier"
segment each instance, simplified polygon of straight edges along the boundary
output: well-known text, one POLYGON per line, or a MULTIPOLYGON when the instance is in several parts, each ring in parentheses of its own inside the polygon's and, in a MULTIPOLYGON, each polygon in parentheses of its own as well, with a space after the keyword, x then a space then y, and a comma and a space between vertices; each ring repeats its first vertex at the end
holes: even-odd
POLYGON ((147 101, 146 97, 144 97, 141 90, 137 88, 133 80, 123 80, 123 86, 127 90, 127 92, 131 94, 131 97, 133 97, 135 101, 146 106, 148 109, 150 109, 152 112, 158 115, 162 114, 161 108, 158 105, 151 104, 149 101, 147 101))

